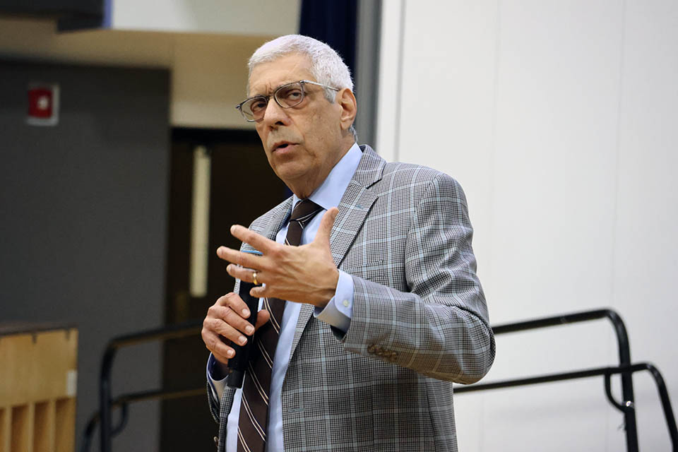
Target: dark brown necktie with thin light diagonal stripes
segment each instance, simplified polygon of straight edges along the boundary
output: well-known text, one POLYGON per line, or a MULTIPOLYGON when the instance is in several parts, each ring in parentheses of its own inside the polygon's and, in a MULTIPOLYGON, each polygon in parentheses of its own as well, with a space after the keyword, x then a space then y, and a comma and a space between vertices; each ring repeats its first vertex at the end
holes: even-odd
MULTIPOLYGON (((297 203, 290 224, 287 225, 285 244, 298 246, 302 241, 304 227, 323 208, 310 199, 297 203)), ((245 381, 242 385, 242 401, 238 420, 238 452, 263 452, 266 446, 268 424, 268 394, 270 393, 270 371, 273 368, 275 347, 280 338, 285 300, 263 299, 264 308, 270 312, 270 321, 256 331, 245 381)))

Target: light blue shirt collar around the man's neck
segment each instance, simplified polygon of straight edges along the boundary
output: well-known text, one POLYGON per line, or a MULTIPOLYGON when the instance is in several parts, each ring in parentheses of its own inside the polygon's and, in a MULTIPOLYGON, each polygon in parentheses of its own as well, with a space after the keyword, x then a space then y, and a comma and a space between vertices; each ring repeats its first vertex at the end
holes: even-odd
MULTIPOLYGON (((334 165, 323 183, 311 193, 309 199, 325 210, 338 206, 353 178, 361 157, 362 150, 360 150, 358 143, 353 143, 348 152, 334 165)), ((297 205, 298 201, 297 195, 292 196, 292 208, 297 205)))

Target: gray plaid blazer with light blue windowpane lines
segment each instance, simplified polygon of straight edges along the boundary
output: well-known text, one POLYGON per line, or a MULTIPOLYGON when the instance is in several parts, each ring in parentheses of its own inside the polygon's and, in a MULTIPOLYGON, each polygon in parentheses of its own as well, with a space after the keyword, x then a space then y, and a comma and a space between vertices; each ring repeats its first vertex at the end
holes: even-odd
MULTIPOLYGON (((285 451, 456 451, 452 382, 481 379, 494 360, 465 196, 446 174, 361 148, 331 233, 355 286, 350 328, 302 305, 283 383, 285 451)), ((290 198, 250 228, 275 240, 291 209, 290 198)), ((233 394, 210 396, 220 452, 233 394)))

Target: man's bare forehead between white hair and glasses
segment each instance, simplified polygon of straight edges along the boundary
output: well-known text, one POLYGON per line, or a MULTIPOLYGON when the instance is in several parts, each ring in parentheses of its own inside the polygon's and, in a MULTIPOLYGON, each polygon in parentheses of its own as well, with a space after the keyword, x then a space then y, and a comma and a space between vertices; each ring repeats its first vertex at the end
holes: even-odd
POLYGON ((254 66, 249 76, 249 95, 270 94, 285 83, 315 81, 311 60, 306 55, 289 54, 254 66))

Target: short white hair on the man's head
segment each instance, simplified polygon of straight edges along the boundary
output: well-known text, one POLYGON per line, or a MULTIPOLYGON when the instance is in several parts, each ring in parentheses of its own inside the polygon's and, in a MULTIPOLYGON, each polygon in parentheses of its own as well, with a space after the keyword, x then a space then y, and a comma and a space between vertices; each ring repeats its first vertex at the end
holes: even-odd
MULTIPOLYGON (((348 88, 353 90, 353 81, 348 66, 335 50, 312 37, 302 35, 286 35, 265 42, 249 58, 247 67, 247 91, 249 92, 249 78, 256 66, 262 63, 274 61, 289 54, 302 54, 311 61, 311 74, 318 83, 331 86, 332 88, 348 88)), ((334 102, 335 92, 325 89, 325 97, 329 102, 334 102)), ((351 125, 353 137, 357 141, 357 133, 351 125)))

